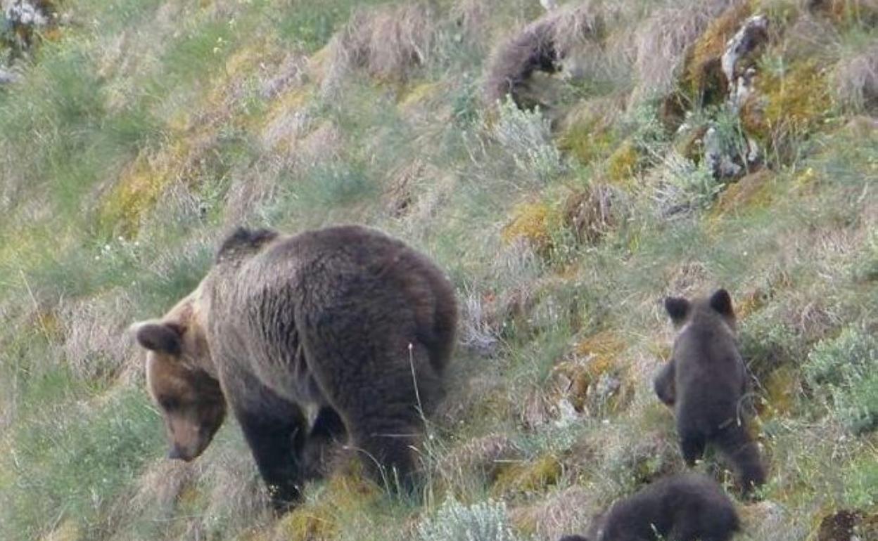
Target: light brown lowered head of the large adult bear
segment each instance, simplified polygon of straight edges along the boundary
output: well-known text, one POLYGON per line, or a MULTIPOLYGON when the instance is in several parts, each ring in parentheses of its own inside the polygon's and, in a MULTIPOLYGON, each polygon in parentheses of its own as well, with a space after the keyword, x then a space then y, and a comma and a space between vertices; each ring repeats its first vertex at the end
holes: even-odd
POLYGON ((226 399, 207 345, 198 291, 161 319, 131 328, 147 350, 147 388, 162 409, 168 457, 187 462, 204 452, 226 416, 226 399))

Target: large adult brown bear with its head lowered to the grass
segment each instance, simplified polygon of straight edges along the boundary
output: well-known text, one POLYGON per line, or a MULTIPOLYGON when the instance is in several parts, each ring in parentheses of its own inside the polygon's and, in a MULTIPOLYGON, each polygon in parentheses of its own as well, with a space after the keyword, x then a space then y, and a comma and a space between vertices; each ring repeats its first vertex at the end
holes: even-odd
POLYGON ((204 452, 228 407, 284 509, 315 440, 347 440, 376 480, 411 488, 456 327, 454 290, 433 263, 342 226, 234 231, 195 291, 133 331, 169 457, 204 452))

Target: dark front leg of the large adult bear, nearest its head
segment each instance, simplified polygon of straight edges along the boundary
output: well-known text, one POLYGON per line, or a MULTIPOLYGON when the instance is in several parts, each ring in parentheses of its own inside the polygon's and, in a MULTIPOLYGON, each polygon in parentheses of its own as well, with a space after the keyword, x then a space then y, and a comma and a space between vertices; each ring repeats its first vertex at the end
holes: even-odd
POLYGON ((258 402, 233 404, 232 408, 268 488, 271 505, 283 512, 301 497, 300 455, 306 441, 306 418, 298 405, 269 388, 262 388, 256 396, 258 402))

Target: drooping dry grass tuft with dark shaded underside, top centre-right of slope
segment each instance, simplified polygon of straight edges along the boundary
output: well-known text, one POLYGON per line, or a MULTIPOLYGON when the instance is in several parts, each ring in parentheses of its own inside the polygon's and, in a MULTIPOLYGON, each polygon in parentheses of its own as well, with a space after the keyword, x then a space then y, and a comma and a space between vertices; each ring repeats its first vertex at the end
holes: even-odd
POLYGON ((592 2, 550 11, 507 39, 488 61, 484 96, 486 103, 502 102, 509 95, 519 107, 524 103, 520 90, 534 72, 555 73, 558 61, 572 48, 588 39, 600 37, 601 11, 592 2))

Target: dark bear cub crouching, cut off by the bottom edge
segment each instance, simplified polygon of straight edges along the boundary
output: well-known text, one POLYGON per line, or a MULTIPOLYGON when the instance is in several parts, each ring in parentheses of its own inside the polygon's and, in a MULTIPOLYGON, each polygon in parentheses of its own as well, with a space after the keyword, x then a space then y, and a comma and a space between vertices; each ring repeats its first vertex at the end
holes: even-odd
POLYGON ((705 475, 684 473, 613 504, 589 537, 561 541, 728 541, 739 529, 738 512, 723 488, 705 475))

